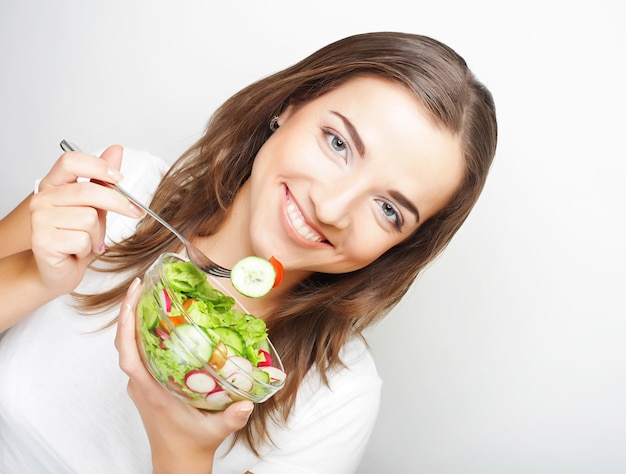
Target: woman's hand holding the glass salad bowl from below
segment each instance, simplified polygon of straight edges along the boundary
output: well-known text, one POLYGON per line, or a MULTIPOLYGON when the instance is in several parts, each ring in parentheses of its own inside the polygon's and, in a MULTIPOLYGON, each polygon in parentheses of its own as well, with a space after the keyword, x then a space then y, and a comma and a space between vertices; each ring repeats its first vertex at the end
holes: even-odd
POLYGON ((252 402, 206 412, 168 393, 144 367, 135 339, 135 305, 141 283, 128 290, 120 310, 115 347, 128 375, 128 393, 137 406, 152 449, 155 473, 212 472, 215 450, 231 433, 246 425, 252 402))

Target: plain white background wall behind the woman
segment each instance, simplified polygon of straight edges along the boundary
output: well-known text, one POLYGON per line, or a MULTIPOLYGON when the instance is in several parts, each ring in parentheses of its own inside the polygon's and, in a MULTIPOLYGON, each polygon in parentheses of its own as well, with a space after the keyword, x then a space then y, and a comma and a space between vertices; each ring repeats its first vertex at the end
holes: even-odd
POLYGON ((330 41, 433 36, 492 90, 499 147, 473 215, 371 332, 385 385, 359 473, 624 473, 619 4, 2 0, 0 215, 62 138, 171 161, 230 94, 330 41))

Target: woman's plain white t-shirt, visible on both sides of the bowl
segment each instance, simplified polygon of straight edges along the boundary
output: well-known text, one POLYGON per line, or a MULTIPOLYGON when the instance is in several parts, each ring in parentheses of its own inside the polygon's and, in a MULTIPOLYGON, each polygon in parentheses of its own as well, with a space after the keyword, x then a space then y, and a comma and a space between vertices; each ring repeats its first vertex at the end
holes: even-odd
MULTIPOLYGON (((148 153, 125 150, 122 184, 148 202, 165 169, 148 153)), ((119 239, 134 225, 109 213, 107 237, 119 239)), ((119 278, 88 272, 79 290, 95 292, 119 278)), ((99 330, 117 310, 85 316, 72 304, 60 297, 0 338, 0 473, 150 473, 150 446, 118 365, 115 327, 99 330)), ((227 440, 213 472, 354 472, 376 420, 381 381, 359 339, 341 356, 348 368, 330 374, 330 388, 315 371, 307 375, 289 426, 271 427, 276 448, 257 458, 237 444, 224 454, 227 440)))

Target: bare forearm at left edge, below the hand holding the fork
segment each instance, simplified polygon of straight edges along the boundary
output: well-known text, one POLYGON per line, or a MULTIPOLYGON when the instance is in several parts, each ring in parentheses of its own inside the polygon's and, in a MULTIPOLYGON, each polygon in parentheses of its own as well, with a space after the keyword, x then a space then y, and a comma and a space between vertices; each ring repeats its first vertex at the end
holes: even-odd
POLYGON ((0 332, 56 296, 41 280, 30 250, 0 259, 0 332))

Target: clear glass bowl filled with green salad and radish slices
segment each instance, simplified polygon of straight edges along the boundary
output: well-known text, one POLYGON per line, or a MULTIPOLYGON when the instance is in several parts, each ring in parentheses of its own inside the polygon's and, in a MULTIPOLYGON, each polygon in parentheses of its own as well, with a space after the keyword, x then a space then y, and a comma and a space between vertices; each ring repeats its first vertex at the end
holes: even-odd
POLYGON ((196 408, 260 403, 285 383, 265 322, 180 255, 163 254, 148 269, 136 320, 148 371, 196 408))

